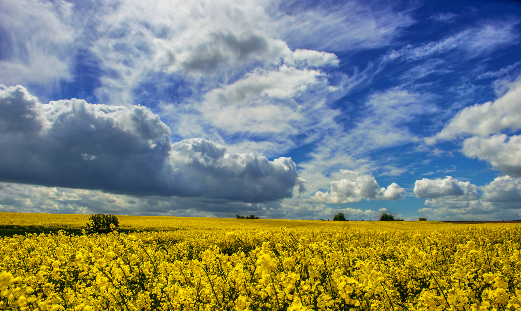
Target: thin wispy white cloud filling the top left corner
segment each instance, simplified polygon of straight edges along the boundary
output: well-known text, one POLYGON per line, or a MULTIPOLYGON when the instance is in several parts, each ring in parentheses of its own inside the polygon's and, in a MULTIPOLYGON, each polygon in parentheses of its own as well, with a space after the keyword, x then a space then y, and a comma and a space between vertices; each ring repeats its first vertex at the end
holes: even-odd
POLYGON ((0 81, 52 88, 69 79, 74 29, 67 2, 8 1, 0 4, 0 81), (38 74, 35 74, 38 72, 38 74))

